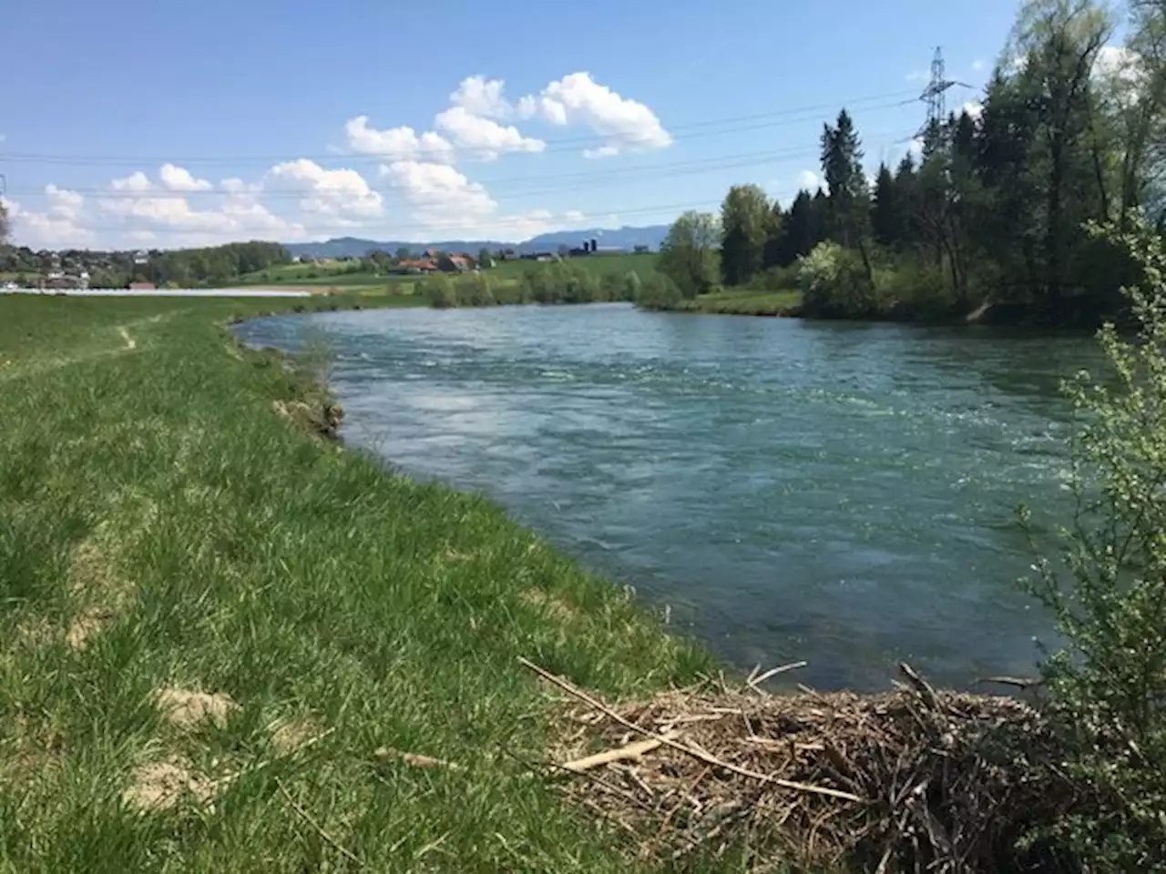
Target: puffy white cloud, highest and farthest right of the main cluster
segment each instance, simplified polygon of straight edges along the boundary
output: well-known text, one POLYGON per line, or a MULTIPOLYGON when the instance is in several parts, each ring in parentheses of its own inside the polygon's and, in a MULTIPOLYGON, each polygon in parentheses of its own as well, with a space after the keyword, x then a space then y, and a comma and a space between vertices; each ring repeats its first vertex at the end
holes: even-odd
POLYGON ((605 142, 588 149, 588 157, 607 157, 623 151, 662 149, 672 146, 660 119, 647 106, 600 85, 590 73, 576 72, 552 82, 538 97, 519 101, 522 117, 541 115, 553 125, 583 125, 605 142))

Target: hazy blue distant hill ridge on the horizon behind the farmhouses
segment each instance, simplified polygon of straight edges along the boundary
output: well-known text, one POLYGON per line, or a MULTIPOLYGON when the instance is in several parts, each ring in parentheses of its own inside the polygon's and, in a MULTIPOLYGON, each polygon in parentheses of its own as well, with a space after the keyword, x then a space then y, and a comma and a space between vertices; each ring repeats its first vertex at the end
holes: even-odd
POLYGON ((513 248, 519 252, 536 252, 541 249, 555 249, 560 246, 581 246, 584 240, 592 237, 598 240, 600 247, 614 247, 633 249, 637 246, 647 246, 653 252, 660 248, 663 238, 668 235, 668 225, 649 225, 647 227, 617 227, 602 228, 592 227, 584 231, 552 231, 550 233, 532 237, 522 242, 501 242, 499 240, 433 240, 431 242, 405 242, 401 240, 363 240, 356 237, 338 237, 323 242, 289 242, 286 248, 293 256, 307 258, 363 258, 373 249, 381 249, 389 254, 400 248, 420 253, 428 248, 442 249, 443 252, 469 252, 477 254, 478 249, 489 248, 497 251, 501 248, 513 248))

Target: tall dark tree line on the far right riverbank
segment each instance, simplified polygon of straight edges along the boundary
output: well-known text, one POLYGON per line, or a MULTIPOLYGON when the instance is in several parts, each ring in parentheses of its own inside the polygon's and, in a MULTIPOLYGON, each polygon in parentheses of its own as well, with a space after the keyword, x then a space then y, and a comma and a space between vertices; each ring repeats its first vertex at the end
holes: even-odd
POLYGON ((1123 15, 1028 0, 982 101, 929 125, 895 165, 868 176, 843 108, 823 125, 822 188, 782 206, 732 186, 719 214, 677 219, 660 269, 677 297, 798 288, 807 315, 1112 313, 1138 268, 1089 226, 1145 212, 1160 231, 1166 205, 1166 0, 1123 15))

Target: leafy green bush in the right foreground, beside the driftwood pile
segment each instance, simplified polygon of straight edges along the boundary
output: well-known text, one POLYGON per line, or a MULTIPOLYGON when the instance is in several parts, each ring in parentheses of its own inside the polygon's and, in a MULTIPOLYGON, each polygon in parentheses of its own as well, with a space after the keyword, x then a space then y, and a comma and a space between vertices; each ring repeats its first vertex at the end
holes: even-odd
MULTIPOLYGON (((1088 791, 1053 829, 1086 871, 1166 869, 1166 249, 1143 219, 1094 228, 1140 267, 1136 336, 1098 333, 1103 379, 1066 383, 1077 512, 1025 585, 1065 641, 1041 665, 1066 773, 1088 791)), ((1027 527, 1028 513, 1021 510, 1027 527)), ((1031 529, 1030 529, 1031 530, 1031 529)), ((1038 554, 1044 554, 1038 549, 1038 554)))

